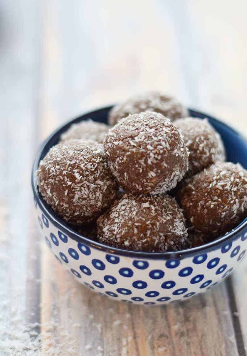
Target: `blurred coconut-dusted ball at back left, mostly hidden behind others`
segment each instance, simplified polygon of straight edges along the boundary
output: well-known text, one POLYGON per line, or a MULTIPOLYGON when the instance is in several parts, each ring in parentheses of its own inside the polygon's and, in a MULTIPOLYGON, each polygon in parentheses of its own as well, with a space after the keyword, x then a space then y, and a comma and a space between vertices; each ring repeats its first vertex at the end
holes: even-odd
POLYGON ((96 122, 91 119, 79 122, 79 124, 72 124, 70 128, 65 131, 60 138, 60 142, 68 140, 82 139, 92 140, 103 143, 106 133, 109 131, 109 126, 102 122, 96 122))

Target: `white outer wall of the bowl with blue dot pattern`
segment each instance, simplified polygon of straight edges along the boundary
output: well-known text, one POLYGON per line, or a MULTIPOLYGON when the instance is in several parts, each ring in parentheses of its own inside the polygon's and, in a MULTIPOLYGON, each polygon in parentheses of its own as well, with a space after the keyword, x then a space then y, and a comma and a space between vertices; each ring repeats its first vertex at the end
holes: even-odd
POLYGON ((194 256, 188 254, 188 257, 181 260, 174 257, 173 260, 162 261, 160 258, 149 259, 146 255, 142 260, 130 260, 129 257, 126 259, 125 256, 115 255, 110 249, 110 253, 96 254, 93 244, 89 247, 84 240, 75 243, 67 230, 65 233, 58 229, 49 231, 51 220, 40 212, 39 206, 37 213, 46 244, 57 261, 88 288, 104 296, 121 296, 123 299, 119 300, 126 303, 175 303, 200 294, 226 278, 236 263, 246 256, 243 242, 247 240, 247 232, 232 241, 219 244, 216 250, 208 250, 207 253, 200 251, 197 255, 194 253, 194 256), (113 265, 118 266, 114 268, 113 265))

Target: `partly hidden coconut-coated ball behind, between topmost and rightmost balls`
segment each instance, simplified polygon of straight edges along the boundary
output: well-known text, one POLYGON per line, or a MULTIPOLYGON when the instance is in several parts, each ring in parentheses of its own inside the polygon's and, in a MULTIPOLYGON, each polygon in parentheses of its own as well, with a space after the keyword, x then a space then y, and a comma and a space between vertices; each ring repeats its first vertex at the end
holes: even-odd
POLYGON ((186 178, 201 172, 216 161, 225 161, 225 148, 221 137, 207 119, 186 117, 175 120, 174 125, 180 130, 190 152, 186 178))

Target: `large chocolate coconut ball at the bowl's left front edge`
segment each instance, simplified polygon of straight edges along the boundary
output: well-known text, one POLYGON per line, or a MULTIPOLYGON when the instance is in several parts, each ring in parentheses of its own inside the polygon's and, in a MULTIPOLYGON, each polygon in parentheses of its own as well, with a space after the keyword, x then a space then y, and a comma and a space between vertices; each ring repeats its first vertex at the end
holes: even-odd
POLYGON ((40 193, 70 224, 92 221, 115 199, 117 184, 101 146, 93 141, 71 140, 53 146, 40 161, 40 193))

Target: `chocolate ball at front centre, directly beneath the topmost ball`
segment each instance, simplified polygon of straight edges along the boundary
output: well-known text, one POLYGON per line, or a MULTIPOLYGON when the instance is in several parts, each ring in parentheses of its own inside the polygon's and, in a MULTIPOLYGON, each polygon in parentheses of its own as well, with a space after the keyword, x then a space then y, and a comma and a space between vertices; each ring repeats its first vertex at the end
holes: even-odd
POLYGON ((98 220, 98 240, 134 251, 174 251, 186 244, 185 218, 168 195, 125 194, 98 220))

